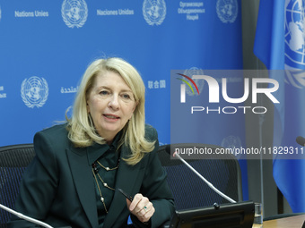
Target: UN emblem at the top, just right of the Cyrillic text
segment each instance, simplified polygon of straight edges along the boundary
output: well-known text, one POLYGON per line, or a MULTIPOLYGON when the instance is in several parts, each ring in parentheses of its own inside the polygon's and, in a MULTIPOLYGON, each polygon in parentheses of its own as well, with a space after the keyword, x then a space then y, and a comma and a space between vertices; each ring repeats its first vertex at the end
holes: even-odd
POLYGON ((216 11, 223 23, 233 23, 239 12, 237 0, 217 0, 216 11))

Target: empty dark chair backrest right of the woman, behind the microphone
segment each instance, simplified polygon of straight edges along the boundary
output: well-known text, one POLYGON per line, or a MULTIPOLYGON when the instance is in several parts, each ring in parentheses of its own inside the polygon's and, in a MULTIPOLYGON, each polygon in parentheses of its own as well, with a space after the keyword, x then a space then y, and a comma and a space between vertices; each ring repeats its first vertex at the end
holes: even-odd
MULTIPOLYGON (((208 148, 210 152, 214 152, 216 148, 221 147, 200 143, 179 143, 164 145, 159 148, 158 154, 161 165, 168 173, 168 182, 175 199, 177 210, 209 207, 213 206, 213 203, 229 203, 227 199, 219 196, 205 182, 197 177, 187 165, 178 159, 171 158, 170 154, 166 151, 169 146, 170 150, 175 150, 176 148, 208 148)), ((236 157, 233 155, 201 155, 201 157, 202 159, 187 159, 187 163, 192 165, 198 173, 203 175, 208 182, 211 182, 222 193, 236 201, 241 201, 242 185, 240 164, 236 157)))

